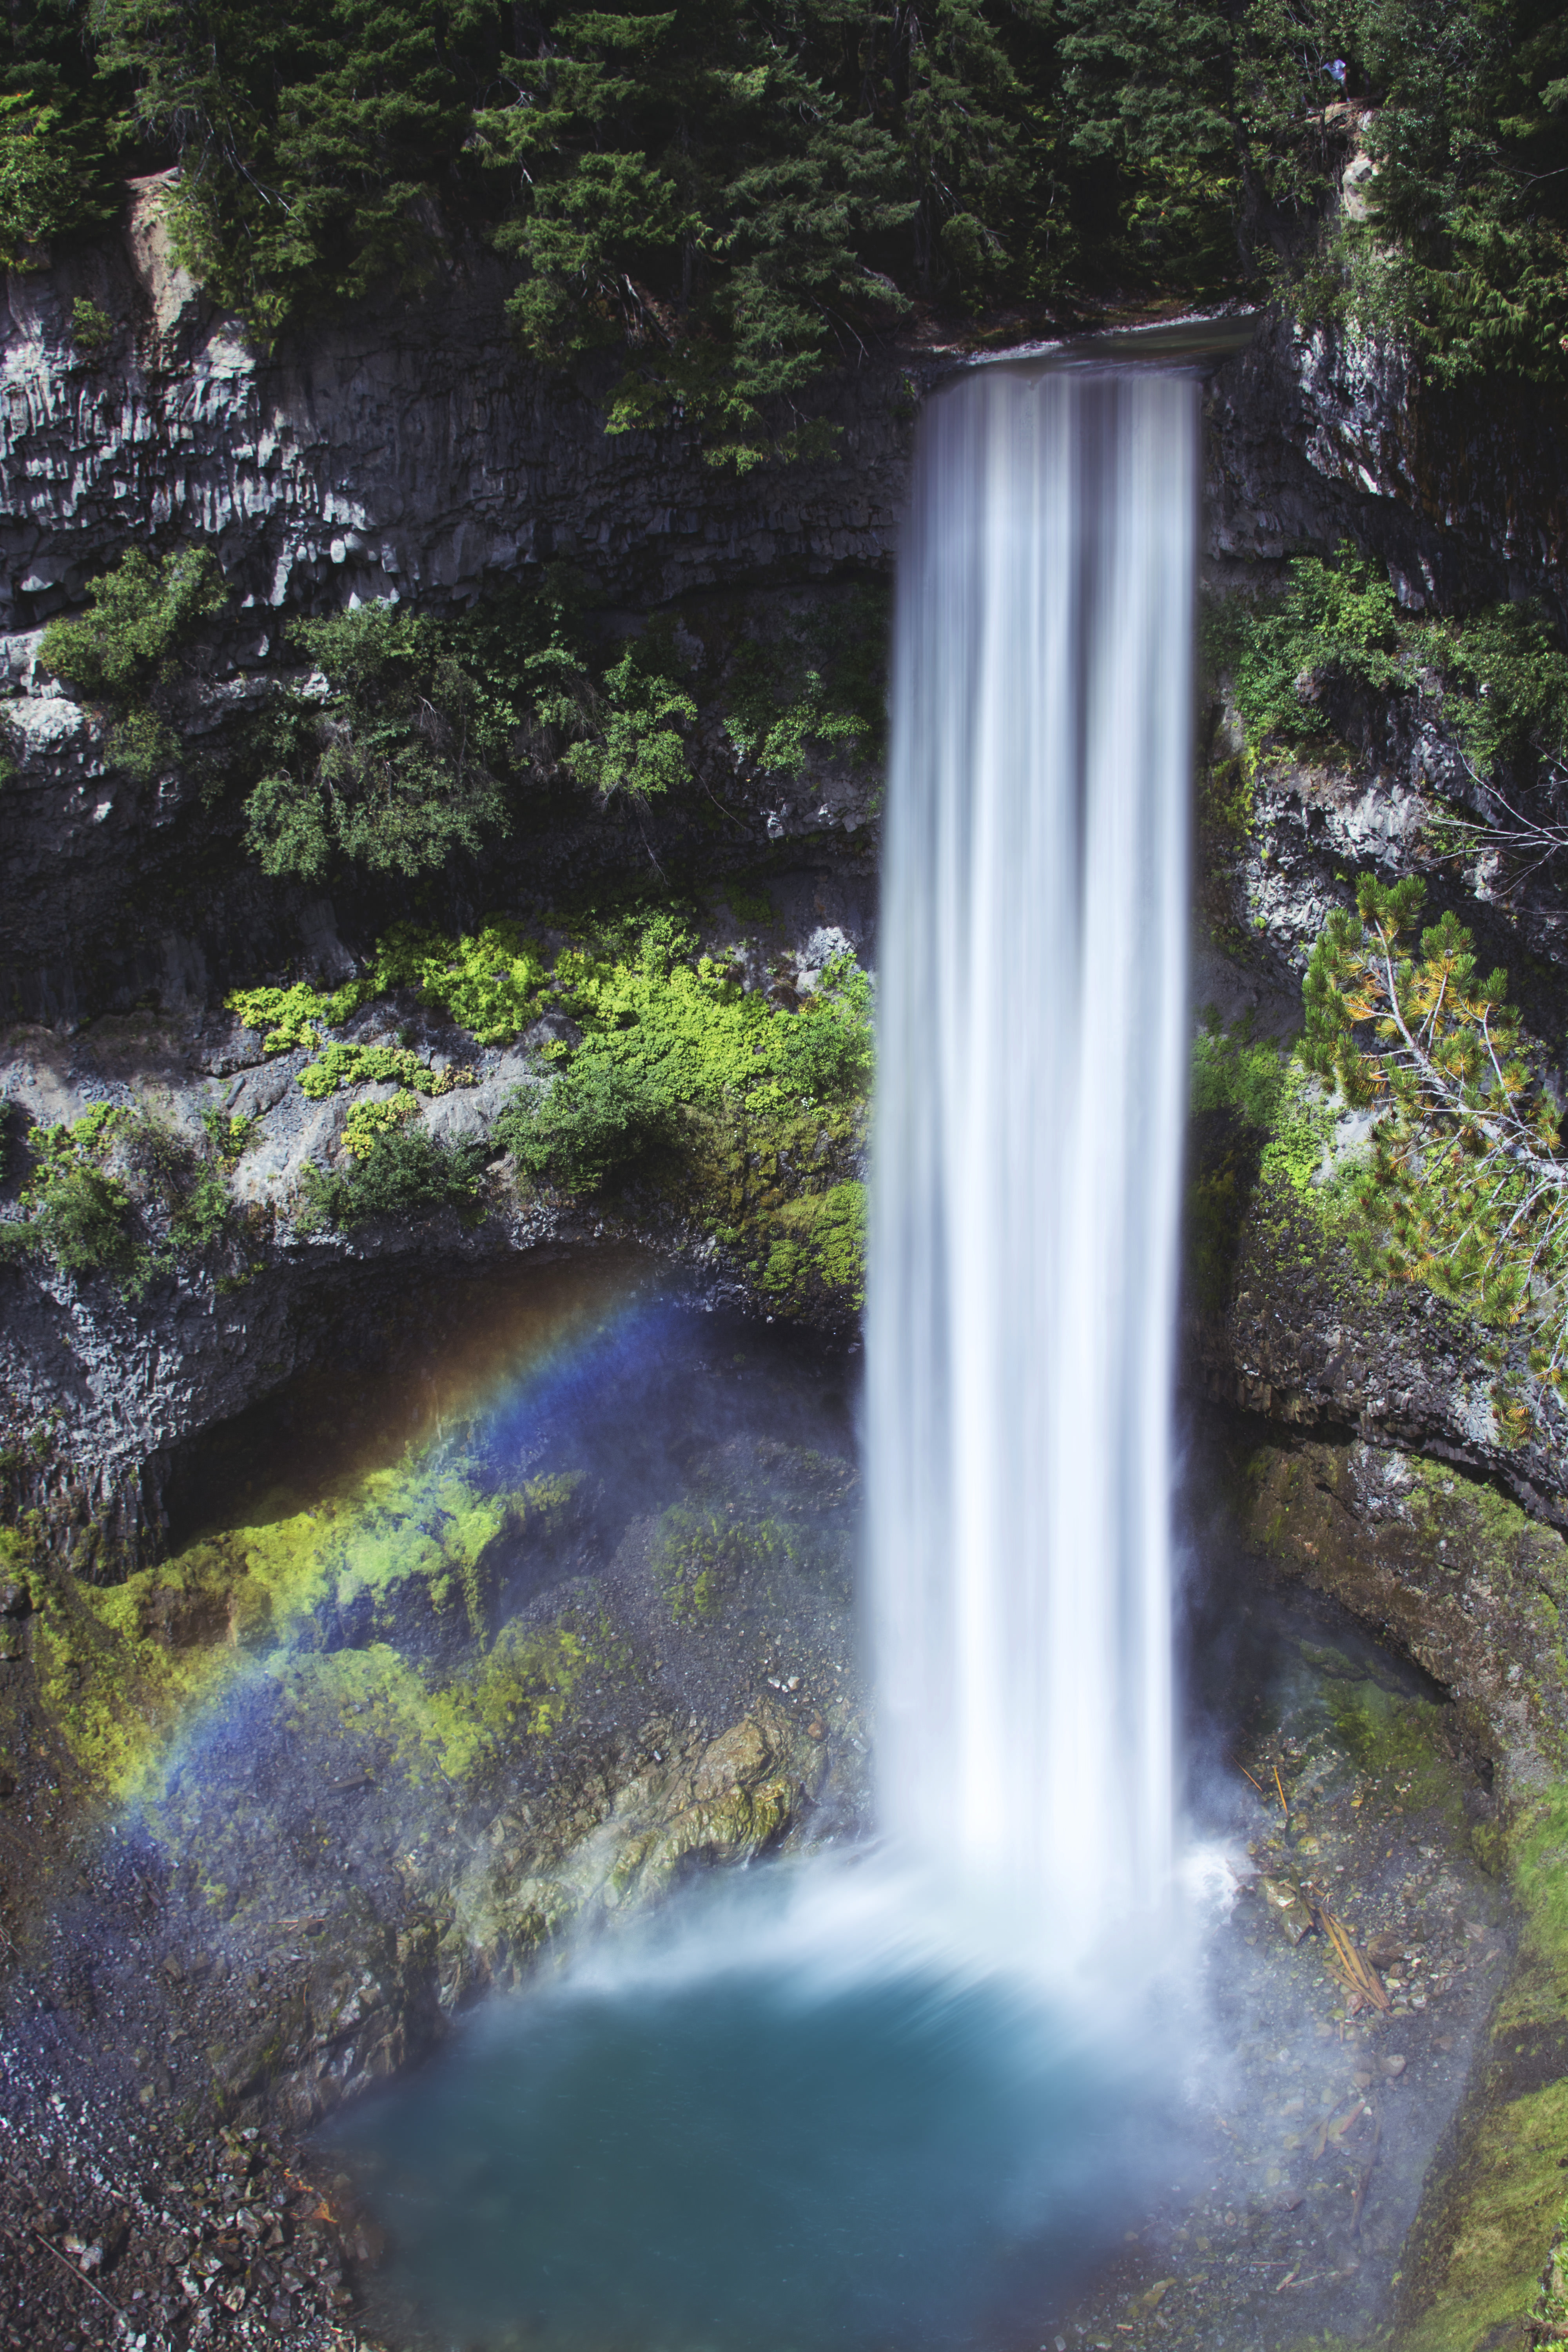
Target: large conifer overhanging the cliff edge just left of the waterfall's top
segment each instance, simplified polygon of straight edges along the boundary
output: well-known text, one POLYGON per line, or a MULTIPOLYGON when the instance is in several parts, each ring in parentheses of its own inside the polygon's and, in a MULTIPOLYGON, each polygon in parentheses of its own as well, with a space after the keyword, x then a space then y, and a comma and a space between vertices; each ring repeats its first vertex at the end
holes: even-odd
POLYGON ((891 129, 825 87, 818 28, 780 31, 703 0, 562 14, 477 122, 487 165, 527 188, 498 230, 527 268, 524 346, 625 346, 611 430, 679 409, 741 466, 769 447, 764 400, 903 308, 867 259, 914 214, 891 129))

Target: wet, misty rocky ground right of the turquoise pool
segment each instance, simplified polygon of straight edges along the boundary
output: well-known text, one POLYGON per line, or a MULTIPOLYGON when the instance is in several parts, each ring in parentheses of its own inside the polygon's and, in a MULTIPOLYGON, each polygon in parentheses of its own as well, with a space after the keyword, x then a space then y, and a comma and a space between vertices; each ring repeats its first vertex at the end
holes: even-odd
POLYGON ((1239 1569, 1211 1555, 1194 1599, 1211 1926, 1182 2157, 1093 2286, 1044 2317, 1034 2340, 1074 2352, 1382 2340, 1519 1943, 1453 1703, 1349 1613, 1239 1569))

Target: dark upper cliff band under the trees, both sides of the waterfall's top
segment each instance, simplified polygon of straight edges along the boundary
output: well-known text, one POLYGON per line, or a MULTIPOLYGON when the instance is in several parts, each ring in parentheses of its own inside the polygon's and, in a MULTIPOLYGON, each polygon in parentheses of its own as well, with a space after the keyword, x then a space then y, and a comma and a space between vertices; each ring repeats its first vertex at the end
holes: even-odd
MULTIPOLYGON (((623 607, 884 569, 912 395, 964 353, 889 341, 825 379, 825 463, 736 477, 693 430, 607 435, 614 362, 522 360, 494 256, 451 249, 423 296, 378 296, 259 350, 174 266, 167 174, 132 181, 118 240, 12 270, 0 306, 0 630, 82 597, 132 541, 216 543, 252 661, 270 614, 465 602, 567 560, 623 607), (115 332, 85 353, 89 299, 115 332)), ((1554 593, 1568 494, 1530 388, 1436 395, 1392 346, 1265 318, 1213 379, 1208 548, 1279 560, 1352 532, 1413 602, 1554 593)))

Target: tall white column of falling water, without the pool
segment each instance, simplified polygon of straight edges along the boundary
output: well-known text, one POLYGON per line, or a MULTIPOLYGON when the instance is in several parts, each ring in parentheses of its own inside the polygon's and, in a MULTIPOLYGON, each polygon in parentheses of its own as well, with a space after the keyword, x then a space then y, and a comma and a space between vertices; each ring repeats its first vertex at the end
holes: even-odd
POLYGON ((898 567, 870 1237, 879 1804, 1070 1966, 1171 1865, 1197 383, 980 367, 898 567))

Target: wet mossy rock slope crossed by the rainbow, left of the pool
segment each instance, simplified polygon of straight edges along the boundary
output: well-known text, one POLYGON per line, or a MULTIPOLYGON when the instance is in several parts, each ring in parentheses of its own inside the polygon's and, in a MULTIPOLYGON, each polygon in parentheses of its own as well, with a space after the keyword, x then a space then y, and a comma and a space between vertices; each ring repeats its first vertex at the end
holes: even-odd
MULTIPOLYGON (((310 2154, 310 2126, 564 1938, 614 1936, 691 1872, 860 1832, 856 1477, 823 1451, 844 1430, 842 1369, 788 1345, 759 1359, 743 1324, 686 1324, 696 1348, 675 1357, 637 1369, 616 1355, 597 1404, 576 1374, 555 1402, 489 1409, 494 1475, 524 1470, 534 1498, 510 1517, 451 1484, 475 1439, 454 1458, 437 1437, 440 1505, 430 1472, 388 1489, 395 1472, 371 1468, 367 1489, 353 1470, 357 1501, 334 1522, 346 1550, 329 1548, 280 1646, 233 1599, 139 1604, 148 1646, 132 1642, 113 1675, 134 1682, 136 1661, 169 1653, 219 1679, 148 1710, 143 1764, 118 1797, 101 1780, 108 1684, 92 1649, 78 1675, 52 1672, 68 1599, 28 1578, 38 1623, 0 1686, 9 2340, 353 2345, 383 2239, 310 2154), (599 1451, 585 1475, 616 1409, 639 1411, 642 1444, 599 1451), (371 1491, 390 1510, 376 1515, 371 1491), (390 1583, 367 1585, 355 1543, 393 1545, 390 1583), (237 1623, 252 1630, 228 1675, 237 1623), (458 1722, 449 1708, 484 1686, 487 1658, 501 1712, 458 1722), (498 1661, 520 1661, 512 1682, 498 1661)), ((473 1329, 454 1345, 470 1367, 473 1329)), ((160 1590, 188 1590, 202 1562, 205 1592, 228 1578, 242 1595, 244 1543, 329 1519, 327 1470, 362 1461, 395 1390, 397 1367, 360 1421, 324 1435, 320 1385, 235 1432, 179 1496, 197 1536, 176 1552, 186 1583, 160 1590), (249 1536, 200 1531, 214 1496, 233 1519, 247 1482, 254 1498, 256 1477, 284 1468, 296 1486, 249 1503, 249 1536)), ((404 1425, 374 1458, 400 1458, 404 1425)), ((7 1590, 19 1599, 16 1581, 7 1590)))

